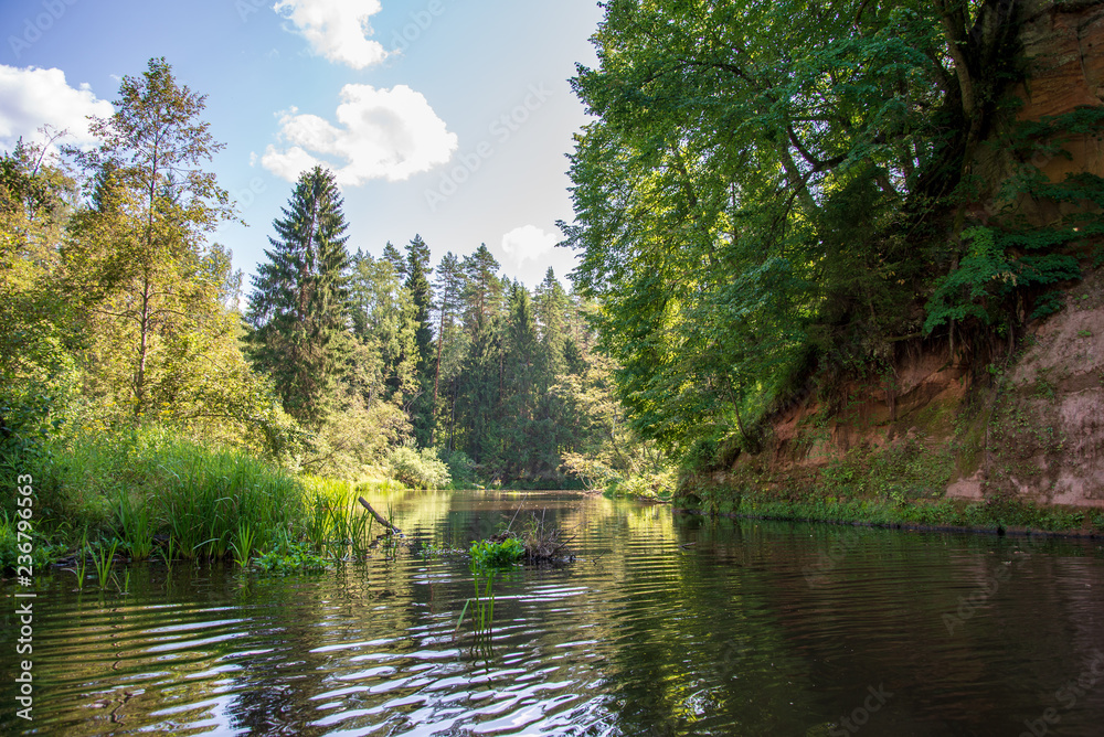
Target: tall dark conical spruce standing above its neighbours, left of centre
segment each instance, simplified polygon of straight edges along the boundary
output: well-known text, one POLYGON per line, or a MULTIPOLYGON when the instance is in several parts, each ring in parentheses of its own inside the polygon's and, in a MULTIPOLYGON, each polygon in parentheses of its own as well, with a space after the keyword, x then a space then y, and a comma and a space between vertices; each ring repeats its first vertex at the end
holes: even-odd
POLYGON ((325 399, 349 345, 347 224, 333 173, 304 172, 273 222, 268 261, 257 267, 246 321, 250 359, 270 375, 287 412, 308 426, 325 417, 325 399))

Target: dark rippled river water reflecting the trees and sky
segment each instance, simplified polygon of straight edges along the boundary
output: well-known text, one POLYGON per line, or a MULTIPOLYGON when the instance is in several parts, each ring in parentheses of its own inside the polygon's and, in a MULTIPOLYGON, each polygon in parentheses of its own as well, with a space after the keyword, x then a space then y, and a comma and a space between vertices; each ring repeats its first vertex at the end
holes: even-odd
POLYGON ((136 566, 35 583, 33 722, 3 735, 1102 735, 1096 542, 709 520, 570 492, 406 492, 414 543, 320 575, 136 566), (575 534, 477 627, 467 547, 575 534), (526 511, 522 512, 524 515, 526 511))

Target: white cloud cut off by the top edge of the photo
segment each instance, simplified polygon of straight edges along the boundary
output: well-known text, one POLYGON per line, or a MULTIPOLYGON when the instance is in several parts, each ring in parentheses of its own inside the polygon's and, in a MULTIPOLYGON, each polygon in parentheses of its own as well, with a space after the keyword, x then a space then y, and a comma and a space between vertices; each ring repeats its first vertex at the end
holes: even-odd
POLYGON ((380 0, 278 0, 273 10, 287 18, 327 60, 362 70, 379 64, 388 52, 370 41, 368 19, 382 10, 380 0))

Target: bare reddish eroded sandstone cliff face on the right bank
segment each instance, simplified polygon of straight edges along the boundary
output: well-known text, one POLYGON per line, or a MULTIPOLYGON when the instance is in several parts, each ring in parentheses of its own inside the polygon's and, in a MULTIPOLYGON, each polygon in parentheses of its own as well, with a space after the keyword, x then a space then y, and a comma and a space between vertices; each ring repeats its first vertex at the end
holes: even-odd
MULTIPOLYGON (((1027 0, 1020 12, 1028 82, 1012 92, 1021 102, 1017 119, 1104 104, 1104 0, 1027 0)), ((981 147, 974 173, 994 183, 994 193, 1025 167, 1052 182, 1104 177, 1098 131, 1063 132, 1052 142, 1070 156, 1022 161, 981 147)), ((1084 206, 992 194, 972 215, 985 221, 1011 207, 1048 226, 1084 206)), ((903 344, 885 374, 840 387, 832 407, 809 400, 779 413, 761 453, 743 453, 703 481, 794 496, 831 484, 841 469, 881 468, 902 479, 905 495, 1104 508, 1104 268, 1092 267, 1093 245, 1081 244, 1086 271, 1068 285, 1063 308, 1028 323, 1018 348, 981 371, 949 345, 903 344)))

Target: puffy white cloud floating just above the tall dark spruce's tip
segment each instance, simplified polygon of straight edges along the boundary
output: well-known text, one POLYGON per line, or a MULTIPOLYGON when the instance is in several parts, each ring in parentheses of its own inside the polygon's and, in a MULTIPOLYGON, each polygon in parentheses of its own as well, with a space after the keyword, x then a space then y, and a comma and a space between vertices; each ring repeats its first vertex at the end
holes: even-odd
POLYGON ((339 184, 355 186, 372 179, 408 179, 446 163, 457 148, 456 133, 406 85, 346 85, 337 120, 335 126, 296 108, 283 113, 279 138, 287 146, 268 146, 261 163, 289 182, 322 164, 333 169, 339 184))

